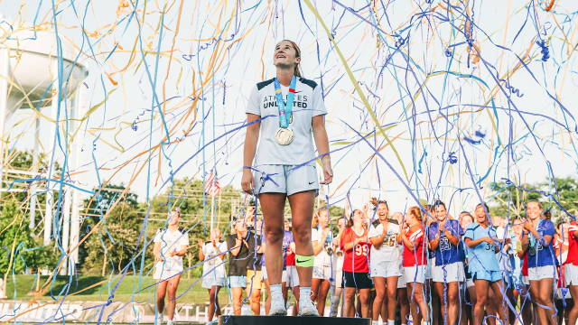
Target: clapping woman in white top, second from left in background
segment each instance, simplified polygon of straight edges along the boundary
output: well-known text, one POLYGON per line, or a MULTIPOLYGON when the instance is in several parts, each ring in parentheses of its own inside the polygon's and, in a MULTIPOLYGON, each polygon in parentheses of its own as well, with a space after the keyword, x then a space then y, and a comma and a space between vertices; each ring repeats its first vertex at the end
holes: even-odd
POLYGON ((225 286, 225 264, 223 263, 224 253, 227 252, 227 243, 220 240, 219 228, 210 230, 210 241, 202 242, 199 239, 199 259, 206 261, 202 264, 202 287, 209 291, 209 322, 212 322, 213 315, 219 318, 219 290, 225 286))

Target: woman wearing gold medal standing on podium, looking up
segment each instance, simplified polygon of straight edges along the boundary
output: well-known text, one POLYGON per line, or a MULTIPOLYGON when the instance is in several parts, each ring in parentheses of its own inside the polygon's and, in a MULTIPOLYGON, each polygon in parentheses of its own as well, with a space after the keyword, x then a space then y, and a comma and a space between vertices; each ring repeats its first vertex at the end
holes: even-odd
POLYGON ((313 272, 312 215, 319 182, 315 150, 323 164, 322 184, 333 178, 325 131, 321 88, 301 78, 301 51, 282 41, 275 46, 276 77, 256 84, 247 103, 242 189, 258 196, 265 219, 266 265, 271 284, 270 315, 286 315, 283 292, 284 206, 293 214, 295 265, 299 274, 299 315, 318 316, 311 296, 313 272), (261 133, 258 151, 256 144, 261 133), (255 154, 256 153, 256 154, 255 154), (255 162, 254 159, 255 158, 255 162), (255 175, 251 172, 255 171, 255 175))

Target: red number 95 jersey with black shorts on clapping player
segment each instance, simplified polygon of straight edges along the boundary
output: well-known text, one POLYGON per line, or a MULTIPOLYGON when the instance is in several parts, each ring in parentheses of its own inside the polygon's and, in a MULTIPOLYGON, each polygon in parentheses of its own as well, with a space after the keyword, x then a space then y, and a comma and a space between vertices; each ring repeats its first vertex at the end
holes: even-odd
POLYGON ((343 257, 343 274, 345 276, 346 288, 371 288, 372 283, 368 278, 369 244, 359 243, 350 250, 344 249, 345 244, 355 242, 357 238, 366 237, 367 235, 368 230, 365 228, 361 234, 355 232, 353 228, 347 228, 343 231, 343 235, 341 235, 340 246, 341 250, 345 252, 343 257))

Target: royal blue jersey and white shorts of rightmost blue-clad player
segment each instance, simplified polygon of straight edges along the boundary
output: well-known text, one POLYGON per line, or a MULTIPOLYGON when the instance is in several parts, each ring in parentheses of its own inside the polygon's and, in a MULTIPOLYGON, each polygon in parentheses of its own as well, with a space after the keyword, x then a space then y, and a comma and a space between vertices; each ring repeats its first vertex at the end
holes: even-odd
POLYGON ((554 223, 550 220, 540 218, 536 227, 539 238, 528 233, 527 249, 527 274, 529 281, 539 281, 542 279, 556 279, 556 265, 558 260, 554 252, 554 223), (545 236, 552 236, 548 246, 544 246, 542 240, 545 236))

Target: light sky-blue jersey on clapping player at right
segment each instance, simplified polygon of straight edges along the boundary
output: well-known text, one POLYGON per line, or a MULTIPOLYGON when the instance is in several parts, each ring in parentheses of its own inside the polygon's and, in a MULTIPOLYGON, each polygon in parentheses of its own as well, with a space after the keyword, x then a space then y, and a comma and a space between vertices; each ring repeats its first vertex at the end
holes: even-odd
MULTIPOLYGON (((477 222, 473 222, 468 227, 466 227, 465 238, 470 238, 471 240, 480 239, 482 237, 492 237, 498 240, 496 237, 496 230, 491 227, 483 228, 477 222)), ((471 247, 468 250, 468 266, 470 272, 489 272, 498 271, 499 265, 496 259, 496 245, 489 244, 486 242, 481 242, 478 246, 471 247)))

